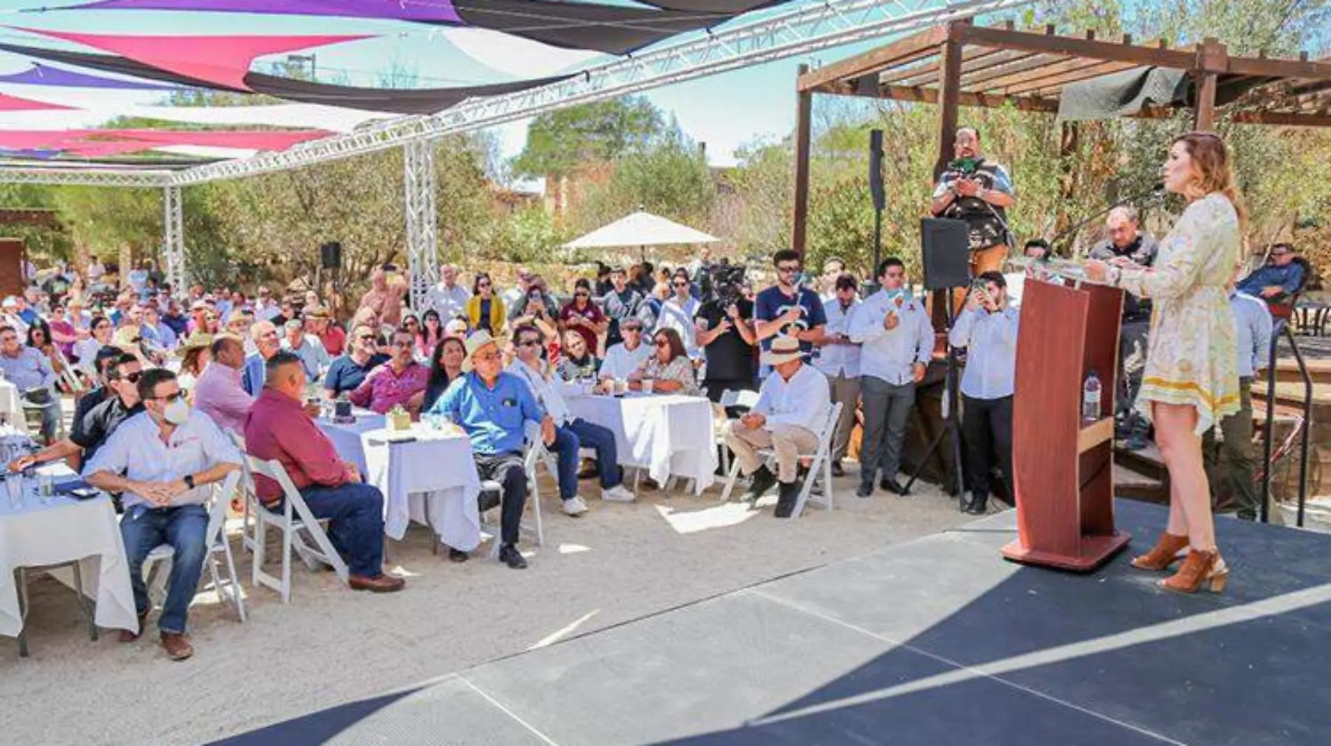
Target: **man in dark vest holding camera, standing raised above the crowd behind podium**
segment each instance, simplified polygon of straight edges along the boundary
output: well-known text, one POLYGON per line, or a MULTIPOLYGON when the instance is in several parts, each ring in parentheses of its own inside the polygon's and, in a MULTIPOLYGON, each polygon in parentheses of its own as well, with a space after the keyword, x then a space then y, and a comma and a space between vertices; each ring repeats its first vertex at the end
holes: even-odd
POLYGON ((1001 271, 1008 254, 1008 207, 1013 195, 1012 177, 1001 165, 980 153, 980 132, 957 130, 956 160, 938 178, 933 190, 933 215, 965 221, 970 226, 970 273, 1001 271))

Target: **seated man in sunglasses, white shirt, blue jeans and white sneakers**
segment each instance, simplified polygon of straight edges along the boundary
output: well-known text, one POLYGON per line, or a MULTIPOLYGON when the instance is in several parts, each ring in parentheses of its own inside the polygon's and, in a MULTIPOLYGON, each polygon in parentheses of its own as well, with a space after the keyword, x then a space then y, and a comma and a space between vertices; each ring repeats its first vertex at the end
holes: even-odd
POLYGON ((568 404, 559 392, 559 382, 546 376, 540 350, 546 338, 531 324, 519 326, 512 331, 512 346, 516 359, 508 366, 508 372, 527 382, 531 395, 544 407, 546 414, 555 420, 555 444, 551 451, 559 456, 559 497, 564 501, 564 513, 580 516, 587 512, 587 504, 578 496, 578 449, 586 444, 596 451, 596 473, 600 475, 600 499, 615 503, 632 503, 634 493, 624 489, 619 455, 615 447, 615 434, 568 414, 568 404))

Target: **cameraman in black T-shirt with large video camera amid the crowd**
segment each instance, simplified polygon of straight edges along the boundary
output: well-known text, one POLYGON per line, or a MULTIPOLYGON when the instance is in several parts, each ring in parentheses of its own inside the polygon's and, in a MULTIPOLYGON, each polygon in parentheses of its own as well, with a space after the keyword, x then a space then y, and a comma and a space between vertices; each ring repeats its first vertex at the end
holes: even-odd
POLYGON ((707 358, 707 379, 703 387, 712 402, 721 400, 721 392, 757 391, 757 334, 753 323, 753 302, 740 295, 744 267, 713 265, 708 273, 711 291, 693 315, 697 327, 697 346, 707 358))

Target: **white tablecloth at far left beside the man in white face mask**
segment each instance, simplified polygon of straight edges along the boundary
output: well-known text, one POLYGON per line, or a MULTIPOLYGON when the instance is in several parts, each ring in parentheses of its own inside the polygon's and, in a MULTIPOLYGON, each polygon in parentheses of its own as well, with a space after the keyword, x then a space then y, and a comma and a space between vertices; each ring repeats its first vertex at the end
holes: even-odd
MULTIPOLYGON (((73 479, 63 465, 48 468, 64 472, 55 476, 56 483, 73 479)), ((13 570, 76 559, 81 559, 84 593, 97 602, 93 616, 97 626, 137 632, 129 564, 110 499, 80 501, 57 496, 45 505, 37 497, 36 479, 27 480, 25 487, 23 505, 13 509, 8 491, 0 485, 0 634, 17 637, 23 629, 13 570)), ((71 582, 68 577, 61 580, 71 582)))

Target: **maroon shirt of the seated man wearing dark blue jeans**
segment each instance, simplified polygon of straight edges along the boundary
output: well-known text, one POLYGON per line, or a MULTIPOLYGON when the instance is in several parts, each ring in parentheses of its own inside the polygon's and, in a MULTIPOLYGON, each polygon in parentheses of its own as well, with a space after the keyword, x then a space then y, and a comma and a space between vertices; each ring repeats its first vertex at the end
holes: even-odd
MULTIPOLYGON (((272 388, 254 399, 245 422, 245 449, 265 461, 277 459, 297 489, 311 484, 341 487, 351 481, 333 441, 301 403, 272 388)), ((264 503, 282 496, 282 487, 264 475, 254 475, 254 489, 264 503)))

